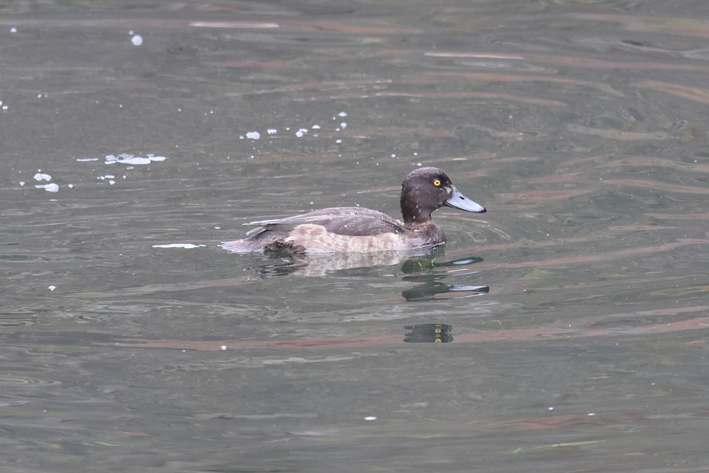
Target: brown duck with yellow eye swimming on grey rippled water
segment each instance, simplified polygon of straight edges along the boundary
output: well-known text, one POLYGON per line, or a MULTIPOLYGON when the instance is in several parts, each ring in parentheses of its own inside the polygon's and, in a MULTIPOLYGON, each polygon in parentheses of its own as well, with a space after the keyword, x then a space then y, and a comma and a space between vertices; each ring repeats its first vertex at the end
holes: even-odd
POLYGON ((485 213, 486 208, 461 194, 448 174, 419 167, 401 184, 401 216, 362 207, 334 207, 300 215, 245 223, 255 226, 242 240, 222 242, 230 252, 374 253, 425 250, 446 242, 431 218, 443 206, 485 213))

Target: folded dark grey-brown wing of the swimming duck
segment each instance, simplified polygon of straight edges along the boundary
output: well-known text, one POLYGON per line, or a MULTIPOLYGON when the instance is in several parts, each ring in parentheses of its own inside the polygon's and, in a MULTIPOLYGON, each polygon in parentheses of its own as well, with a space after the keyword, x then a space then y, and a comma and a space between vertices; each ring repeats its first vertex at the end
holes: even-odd
POLYGON ((403 233, 403 225, 379 211, 360 207, 323 208, 277 220, 264 220, 245 225, 257 228, 249 233, 263 230, 289 233, 300 225, 319 225, 330 233, 347 236, 381 235, 381 233, 403 233))

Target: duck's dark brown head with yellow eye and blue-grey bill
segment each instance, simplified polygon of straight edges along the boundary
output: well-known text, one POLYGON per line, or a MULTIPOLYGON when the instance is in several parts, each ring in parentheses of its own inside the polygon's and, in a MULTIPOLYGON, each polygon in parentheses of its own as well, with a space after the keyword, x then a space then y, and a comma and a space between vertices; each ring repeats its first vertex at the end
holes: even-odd
POLYGON ((455 188, 448 174, 437 167, 419 167, 401 184, 401 216, 407 225, 428 222, 431 213, 442 206, 467 212, 485 213, 455 188))

